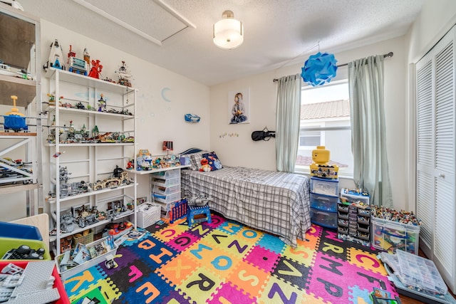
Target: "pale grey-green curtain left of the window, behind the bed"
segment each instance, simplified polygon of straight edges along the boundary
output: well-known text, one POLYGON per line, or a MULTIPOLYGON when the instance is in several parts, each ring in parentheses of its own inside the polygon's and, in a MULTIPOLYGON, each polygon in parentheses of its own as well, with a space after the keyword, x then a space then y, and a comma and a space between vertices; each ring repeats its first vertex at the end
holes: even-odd
POLYGON ((301 112, 301 75, 279 78, 276 108, 276 167, 294 172, 299 142, 301 112))

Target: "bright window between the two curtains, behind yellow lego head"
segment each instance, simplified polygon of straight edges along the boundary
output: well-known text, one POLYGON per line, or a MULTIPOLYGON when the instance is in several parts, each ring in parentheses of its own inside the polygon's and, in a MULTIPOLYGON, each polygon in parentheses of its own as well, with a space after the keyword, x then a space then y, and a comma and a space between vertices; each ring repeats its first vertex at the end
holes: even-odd
POLYGON ((331 164, 338 165, 339 176, 353 177, 347 80, 302 88, 296 172, 309 173, 316 146, 325 146, 331 152, 331 164))

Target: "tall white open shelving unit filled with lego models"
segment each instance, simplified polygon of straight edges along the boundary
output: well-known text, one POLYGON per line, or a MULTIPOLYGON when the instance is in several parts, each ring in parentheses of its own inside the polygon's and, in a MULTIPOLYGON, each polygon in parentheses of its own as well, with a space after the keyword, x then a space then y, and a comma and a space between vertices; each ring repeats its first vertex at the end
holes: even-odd
POLYGON ((136 154, 136 90, 53 67, 46 78, 47 201, 58 256, 62 242, 87 229, 96 234, 113 221, 136 227, 136 175, 123 169, 136 154))

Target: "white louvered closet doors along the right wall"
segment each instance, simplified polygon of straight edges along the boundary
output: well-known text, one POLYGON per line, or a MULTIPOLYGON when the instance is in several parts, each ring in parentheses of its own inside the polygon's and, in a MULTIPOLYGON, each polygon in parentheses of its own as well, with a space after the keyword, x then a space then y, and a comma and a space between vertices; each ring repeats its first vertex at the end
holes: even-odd
POLYGON ((420 248, 456 292, 455 27, 416 64, 420 248))

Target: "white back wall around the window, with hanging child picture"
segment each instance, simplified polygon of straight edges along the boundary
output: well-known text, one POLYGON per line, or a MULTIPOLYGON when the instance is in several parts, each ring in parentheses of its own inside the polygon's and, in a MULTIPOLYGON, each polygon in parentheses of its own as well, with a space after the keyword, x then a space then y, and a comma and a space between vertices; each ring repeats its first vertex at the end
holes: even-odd
MULTIPOLYGON (((331 50, 322 50, 329 51, 331 50)), ((384 54, 392 51, 393 58, 385 59, 385 120, 388 163, 390 168, 393 201, 396 209, 404 209, 408 201, 405 189, 405 84, 406 60, 404 37, 374 43, 351 51, 335 53, 338 63, 348 63, 358 58, 384 54)), ((276 83, 274 78, 284 75, 301 73, 303 63, 286 66, 279 70, 261 73, 252 77, 242 78, 214 85, 211 91, 211 150, 217 152, 222 164, 239 165, 262 169, 276 169, 275 140, 254 142, 250 135, 254 130, 262 130, 265 126, 275 130, 276 126, 276 83), (228 92, 242 88, 250 88, 250 123, 245 125, 229 125, 227 113, 228 92), (222 137, 223 134, 239 136, 222 137)), ((338 70, 339 75, 346 75, 346 67, 338 70)), ((353 181, 341 179, 341 187, 354 187, 353 181)))

